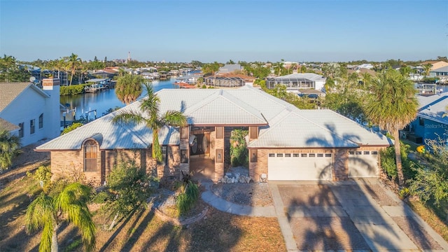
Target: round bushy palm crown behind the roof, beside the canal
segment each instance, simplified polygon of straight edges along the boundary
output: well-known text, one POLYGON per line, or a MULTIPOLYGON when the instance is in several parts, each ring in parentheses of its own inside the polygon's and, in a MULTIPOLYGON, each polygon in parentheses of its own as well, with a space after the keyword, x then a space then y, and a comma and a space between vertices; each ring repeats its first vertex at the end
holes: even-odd
POLYGON ((118 78, 115 87, 118 99, 126 105, 135 102, 142 91, 141 83, 144 83, 144 79, 137 75, 126 74, 118 78))

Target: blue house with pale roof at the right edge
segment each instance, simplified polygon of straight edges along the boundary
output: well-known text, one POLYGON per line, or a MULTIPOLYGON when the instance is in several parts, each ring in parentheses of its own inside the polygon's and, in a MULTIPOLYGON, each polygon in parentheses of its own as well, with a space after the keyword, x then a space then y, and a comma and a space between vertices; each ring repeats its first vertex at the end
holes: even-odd
POLYGON ((425 143, 426 139, 447 141, 448 116, 447 113, 448 92, 431 96, 418 95, 419 112, 417 117, 409 125, 412 140, 417 144, 425 143))

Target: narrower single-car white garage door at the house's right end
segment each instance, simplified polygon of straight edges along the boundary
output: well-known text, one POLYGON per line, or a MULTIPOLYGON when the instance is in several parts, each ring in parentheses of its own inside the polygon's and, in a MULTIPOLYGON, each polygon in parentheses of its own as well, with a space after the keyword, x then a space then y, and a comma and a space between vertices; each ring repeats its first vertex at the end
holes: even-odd
POLYGON ((349 151, 349 178, 379 176, 378 151, 349 151))

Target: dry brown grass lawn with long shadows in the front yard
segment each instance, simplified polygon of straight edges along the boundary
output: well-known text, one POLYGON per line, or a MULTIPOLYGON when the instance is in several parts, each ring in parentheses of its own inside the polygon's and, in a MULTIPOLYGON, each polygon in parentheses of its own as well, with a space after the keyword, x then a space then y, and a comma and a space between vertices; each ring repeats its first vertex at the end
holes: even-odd
MULTIPOLYGON (((26 176, 48 155, 27 159, 0 175, 0 251, 37 251, 41 233, 25 233, 25 211, 41 192, 37 181, 26 176), (43 157, 43 158, 42 158, 43 157), (31 162, 32 161, 32 162, 31 162)), ((39 155, 41 155, 40 153, 39 155)), ((161 221, 149 210, 138 211, 112 231, 102 210, 94 213, 97 224, 97 251, 286 251, 276 218, 251 218, 209 209, 201 221, 178 227, 161 221)), ((62 225, 58 232, 60 251, 83 251, 75 228, 62 225)))

